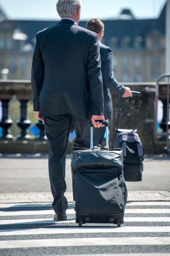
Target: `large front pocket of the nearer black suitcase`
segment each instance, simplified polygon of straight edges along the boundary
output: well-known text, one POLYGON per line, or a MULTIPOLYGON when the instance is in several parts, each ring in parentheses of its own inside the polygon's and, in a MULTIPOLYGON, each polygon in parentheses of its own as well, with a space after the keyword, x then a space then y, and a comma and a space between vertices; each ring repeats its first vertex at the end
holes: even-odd
POLYGON ((81 214, 118 214, 124 209, 118 167, 76 171, 76 211, 81 214))

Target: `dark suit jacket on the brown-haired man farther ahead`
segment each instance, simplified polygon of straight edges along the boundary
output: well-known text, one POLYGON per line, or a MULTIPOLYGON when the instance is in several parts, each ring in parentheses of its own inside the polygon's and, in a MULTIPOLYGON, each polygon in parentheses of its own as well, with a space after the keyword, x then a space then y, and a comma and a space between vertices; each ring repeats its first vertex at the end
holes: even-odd
POLYGON ((110 90, 122 96, 125 92, 123 85, 118 83, 113 74, 113 53, 111 48, 99 43, 100 56, 102 61, 102 78, 103 78, 103 94, 104 94, 104 110, 105 118, 112 119, 113 106, 111 100, 110 90))

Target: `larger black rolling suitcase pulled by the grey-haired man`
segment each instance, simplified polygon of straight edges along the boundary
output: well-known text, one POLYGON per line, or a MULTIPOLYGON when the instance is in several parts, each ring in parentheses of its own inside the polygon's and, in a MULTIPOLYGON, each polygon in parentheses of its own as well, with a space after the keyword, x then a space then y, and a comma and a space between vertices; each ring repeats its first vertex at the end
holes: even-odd
MULTIPOLYGON (((72 148, 72 177, 75 178, 76 223, 124 223, 127 188, 123 176, 122 149, 109 149, 108 122, 106 146, 72 148)), ((99 128, 100 129, 100 128, 99 128)))

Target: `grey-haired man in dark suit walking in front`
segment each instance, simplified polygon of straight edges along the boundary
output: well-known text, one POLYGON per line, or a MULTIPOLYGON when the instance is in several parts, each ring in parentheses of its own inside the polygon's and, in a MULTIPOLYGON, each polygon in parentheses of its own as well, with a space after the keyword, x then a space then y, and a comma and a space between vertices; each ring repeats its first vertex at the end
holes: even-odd
POLYGON ((37 33, 33 63, 34 110, 49 142, 54 219, 65 220, 65 156, 71 123, 74 146, 90 146, 90 120, 103 126, 103 90, 98 36, 78 26, 81 0, 58 0, 61 21, 37 33))

